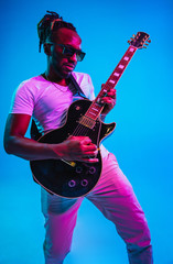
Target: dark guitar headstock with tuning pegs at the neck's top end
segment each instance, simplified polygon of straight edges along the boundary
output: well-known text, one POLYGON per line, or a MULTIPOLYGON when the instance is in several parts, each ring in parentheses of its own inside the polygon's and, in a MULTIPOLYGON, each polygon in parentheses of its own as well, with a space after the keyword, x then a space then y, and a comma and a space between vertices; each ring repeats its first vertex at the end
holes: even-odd
POLYGON ((133 35, 132 37, 130 37, 130 41, 128 41, 128 43, 137 48, 143 48, 143 47, 147 48, 147 46, 151 42, 149 37, 150 37, 149 34, 144 32, 138 32, 137 35, 133 35))

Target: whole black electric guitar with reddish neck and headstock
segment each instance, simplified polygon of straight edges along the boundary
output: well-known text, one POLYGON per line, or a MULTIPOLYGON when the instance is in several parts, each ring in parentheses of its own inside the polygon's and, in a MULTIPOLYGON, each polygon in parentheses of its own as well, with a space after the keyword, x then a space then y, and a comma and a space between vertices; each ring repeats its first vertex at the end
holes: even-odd
MULTIPOLYGON (((104 106, 101 98, 110 88, 115 88, 130 59, 138 48, 147 47, 151 41, 144 32, 128 41, 129 48, 102 86, 94 101, 82 99, 73 102, 68 109, 66 123, 39 139, 41 143, 58 144, 69 135, 89 136, 99 150, 100 142, 115 130, 116 123, 105 124, 100 120, 104 106), (147 43, 148 42, 148 43, 147 43)), ((61 197, 77 198, 88 194, 97 184, 101 174, 101 155, 98 151, 97 163, 68 162, 64 160, 43 160, 30 162, 33 178, 48 193, 61 197)))

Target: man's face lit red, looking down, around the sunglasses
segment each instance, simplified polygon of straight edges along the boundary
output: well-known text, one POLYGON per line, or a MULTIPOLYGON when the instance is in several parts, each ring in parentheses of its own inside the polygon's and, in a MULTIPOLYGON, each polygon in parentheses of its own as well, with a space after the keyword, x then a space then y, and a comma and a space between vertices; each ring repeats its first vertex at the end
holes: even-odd
POLYGON ((55 44, 51 45, 50 67, 58 77, 67 78, 77 65, 77 57, 76 54, 66 56, 63 47, 56 44, 80 50, 82 40, 76 32, 62 28, 54 33, 52 42, 55 44))

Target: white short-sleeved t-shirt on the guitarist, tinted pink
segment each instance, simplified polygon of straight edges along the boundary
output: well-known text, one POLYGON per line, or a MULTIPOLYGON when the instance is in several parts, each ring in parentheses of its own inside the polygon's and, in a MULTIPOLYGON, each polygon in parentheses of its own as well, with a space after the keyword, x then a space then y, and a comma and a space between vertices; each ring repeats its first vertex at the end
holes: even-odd
MULTIPOLYGON (((73 73, 73 76, 86 98, 94 100, 90 76, 82 73, 73 73)), ((39 132, 44 134, 65 123, 66 112, 71 103, 77 99, 82 99, 82 97, 74 92, 72 84, 60 86, 56 82, 47 81, 40 75, 23 81, 17 88, 10 112, 32 116, 39 132)), ((106 156, 108 151, 102 145, 100 148, 101 155, 106 156)))

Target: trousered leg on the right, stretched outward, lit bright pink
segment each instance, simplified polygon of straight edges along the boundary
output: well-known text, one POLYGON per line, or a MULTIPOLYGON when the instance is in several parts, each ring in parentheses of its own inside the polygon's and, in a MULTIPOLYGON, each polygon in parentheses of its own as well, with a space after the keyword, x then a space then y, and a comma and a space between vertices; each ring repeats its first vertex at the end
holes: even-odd
POLYGON ((127 244, 130 264, 153 263, 144 213, 112 154, 105 158, 99 183, 87 198, 116 224, 127 244))

